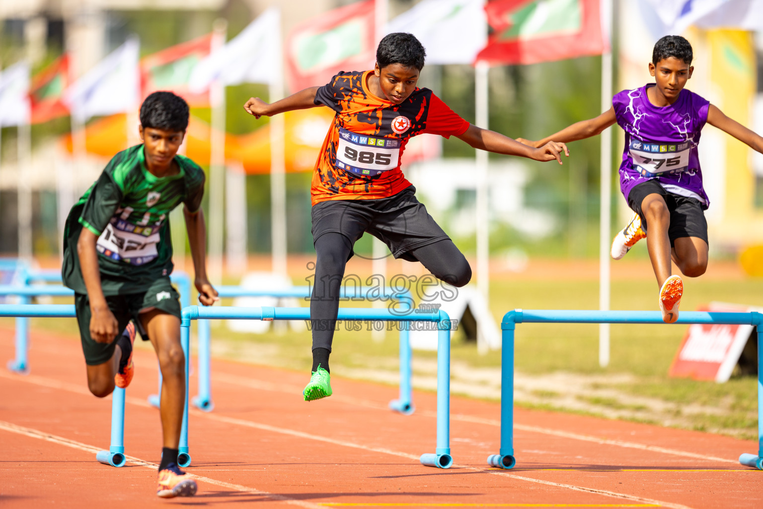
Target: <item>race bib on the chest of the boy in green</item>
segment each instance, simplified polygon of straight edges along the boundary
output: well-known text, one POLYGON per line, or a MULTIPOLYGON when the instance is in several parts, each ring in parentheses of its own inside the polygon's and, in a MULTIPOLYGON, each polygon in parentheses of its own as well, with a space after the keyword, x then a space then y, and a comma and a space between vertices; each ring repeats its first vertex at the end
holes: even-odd
POLYGON ((106 226, 95 247, 98 253, 111 259, 143 265, 159 256, 158 242, 159 226, 141 227, 118 220, 106 226))

